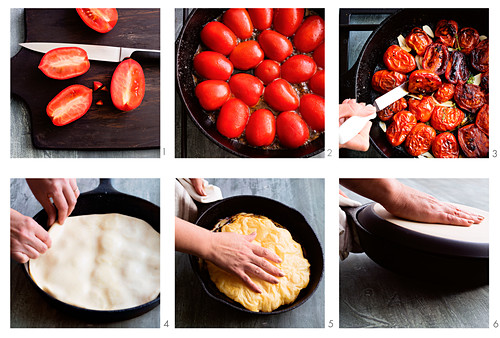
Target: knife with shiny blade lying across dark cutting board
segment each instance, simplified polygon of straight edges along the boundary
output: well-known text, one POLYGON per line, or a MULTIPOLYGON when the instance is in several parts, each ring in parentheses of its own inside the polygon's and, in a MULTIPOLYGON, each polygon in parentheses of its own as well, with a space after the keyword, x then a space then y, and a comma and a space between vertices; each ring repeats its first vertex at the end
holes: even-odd
POLYGON ((77 43, 56 43, 56 42, 23 42, 20 46, 33 50, 35 52, 47 53, 55 48, 61 47, 79 47, 87 52, 90 60, 105 62, 120 62, 127 57, 138 55, 141 58, 160 58, 160 51, 154 49, 138 49, 115 46, 87 45, 77 43))

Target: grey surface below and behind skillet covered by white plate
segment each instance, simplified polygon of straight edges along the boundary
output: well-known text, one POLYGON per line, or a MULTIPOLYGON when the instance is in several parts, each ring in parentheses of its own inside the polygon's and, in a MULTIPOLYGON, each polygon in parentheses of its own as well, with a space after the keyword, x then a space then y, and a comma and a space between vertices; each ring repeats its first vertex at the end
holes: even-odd
MULTIPOLYGON (((487 179, 401 179, 453 203, 489 210, 487 179)), ((370 200, 341 189, 365 204, 370 200)), ((397 253, 395 253, 397 254, 397 253)), ((340 262, 340 327, 488 327, 489 286, 463 288, 392 273, 365 254, 340 262)))

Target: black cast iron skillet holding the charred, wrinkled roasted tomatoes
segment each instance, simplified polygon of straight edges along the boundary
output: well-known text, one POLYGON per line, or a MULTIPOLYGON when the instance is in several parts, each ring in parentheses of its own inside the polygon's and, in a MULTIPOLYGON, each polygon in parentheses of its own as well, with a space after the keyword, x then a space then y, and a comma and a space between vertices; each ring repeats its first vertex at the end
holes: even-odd
MULTIPOLYGON (((386 68, 383 55, 387 48, 393 44, 397 45, 398 35, 406 36, 413 27, 428 25, 434 31, 437 22, 441 19, 455 20, 459 29, 473 27, 478 30, 480 35, 489 37, 488 9, 402 9, 384 20, 379 28, 370 35, 358 61, 353 66, 355 73, 352 70, 349 71, 350 76, 354 76, 354 79, 346 79, 342 85, 354 86, 354 88, 349 89, 358 102, 373 103, 381 94, 372 89, 371 79, 377 70, 386 68)), ((349 74, 346 76, 349 77, 349 74)), ((347 97, 341 99, 345 98, 347 97)), ((385 133, 380 129, 378 121, 378 119, 375 120, 370 130, 370 140, 373 146, 386 157, 411 157, 404 150, 404 147, 391 146, 385 133)))

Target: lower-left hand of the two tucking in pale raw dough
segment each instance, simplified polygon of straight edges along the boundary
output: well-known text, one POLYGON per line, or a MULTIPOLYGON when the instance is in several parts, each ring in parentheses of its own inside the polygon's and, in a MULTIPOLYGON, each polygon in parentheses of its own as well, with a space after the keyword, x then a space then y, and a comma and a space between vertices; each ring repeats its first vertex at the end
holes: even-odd
POLYGON ((51 246, 49 233, 31 217, 10 209, 10 254, 19 263, 37 258, 51 246))

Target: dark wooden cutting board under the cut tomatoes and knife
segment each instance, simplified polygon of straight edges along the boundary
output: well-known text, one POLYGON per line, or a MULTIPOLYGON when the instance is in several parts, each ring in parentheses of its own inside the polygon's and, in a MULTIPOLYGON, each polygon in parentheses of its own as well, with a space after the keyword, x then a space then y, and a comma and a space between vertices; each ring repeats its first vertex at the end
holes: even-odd
MULTIPOLYGON (((75 9, 26 9, 26 42, 65 42, 130 48, 160 49, 160 10, 118 8, 118 22, 98 33, 75 9)), ((11 59, 11 90, 24 100, 31 117, 33 144, 41 149, 149 149, 160 146, 160 62, 137 60, 146 78, 142 104, 129 112, 113 106, 109 91, 93 93, 92 106, 77 121, 56 127, 45 111, 64 88, 94 81, 108 89, 118 63, 90 61, 87 73, 68 80, 45 76, 38 65, 43 54, 22 48, 11 59), (101 100, 103 105, 96 105, 101 100)))

